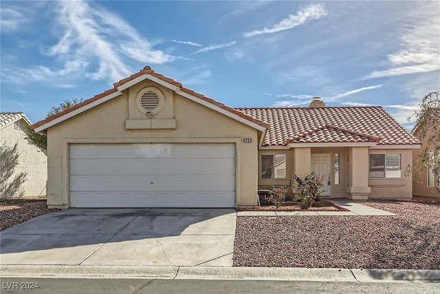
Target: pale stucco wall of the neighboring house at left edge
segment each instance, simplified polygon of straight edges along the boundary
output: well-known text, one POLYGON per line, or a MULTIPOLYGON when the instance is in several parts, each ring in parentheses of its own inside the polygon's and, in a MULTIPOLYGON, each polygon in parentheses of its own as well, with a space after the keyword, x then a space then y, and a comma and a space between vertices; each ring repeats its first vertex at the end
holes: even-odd
MULTIPOLYGON (((23 124, 27 124, 25 120, 21 119, 23 124)), ((47 180, 47 156, 39 149, 28 142, 26 134, 23 129, 14 129, 14 123, 4 127, 0 130, 1 144, 13 147, 18 142, 19 150, 19 165, 14 170, 14 178, 22 172, 26 173, 26 180, 22 185, 24 197, 35 197, 46 195, 46 180, 47 180)), ((1 171, 0 171, 1 172, 1 171)), ((16 198, 20 196, 19 193, 15 195, 1 195, 1 198, 16 198)))

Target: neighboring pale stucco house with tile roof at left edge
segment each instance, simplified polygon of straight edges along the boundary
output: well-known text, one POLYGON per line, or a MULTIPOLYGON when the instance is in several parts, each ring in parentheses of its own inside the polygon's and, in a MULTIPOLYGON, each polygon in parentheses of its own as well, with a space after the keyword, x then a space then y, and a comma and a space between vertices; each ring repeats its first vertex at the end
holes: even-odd
POLYGON ((47 156, 29 143, 25 127, 32 125, 23 112, 0 112, 2 164, 0 198, 46 195, 47 156), (13 147, 17 144, 18 164, 11 166, 13 147), (4 156, 4 157, 3 157, 4 156))

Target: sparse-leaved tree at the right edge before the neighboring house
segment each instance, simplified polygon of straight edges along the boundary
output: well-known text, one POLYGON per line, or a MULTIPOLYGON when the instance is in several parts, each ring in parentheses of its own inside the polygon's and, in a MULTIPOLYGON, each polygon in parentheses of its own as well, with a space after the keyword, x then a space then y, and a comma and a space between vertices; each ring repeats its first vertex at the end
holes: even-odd
POLYGON ((421 152, 406 167, 405 175, 419 176, 425 169, 440 174, 440 92, 430 92, 421 99, 420 109, 408 118, 416 119, 415 130, 419 140, 423 141, 421 152))

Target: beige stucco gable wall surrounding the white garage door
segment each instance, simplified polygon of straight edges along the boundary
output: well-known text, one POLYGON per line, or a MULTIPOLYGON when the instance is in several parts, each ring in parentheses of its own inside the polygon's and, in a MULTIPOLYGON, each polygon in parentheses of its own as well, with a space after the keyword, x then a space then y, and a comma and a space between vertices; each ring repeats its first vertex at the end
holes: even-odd
POLYGON ((69 207, 69 144, 235 143, 236 204, 253 206, 256 205, 257 189, 257 133, 256 129, 190 101, 166 87, 144 81, 124 90, 123 96, 47 129, 47 203, 49 207, 69 207), (163 111, 153 116, 153 120, 160 124, 160 119, 166 122, 175 119, 175 129, 126 129, 127 119, 140 120, 137 125, 146 120, 146 115, 137 113, 130 101, 147 86, 158 87, 166 98, 163 111), (252 143, 242 143, 242 138, 252 138, 252 143))

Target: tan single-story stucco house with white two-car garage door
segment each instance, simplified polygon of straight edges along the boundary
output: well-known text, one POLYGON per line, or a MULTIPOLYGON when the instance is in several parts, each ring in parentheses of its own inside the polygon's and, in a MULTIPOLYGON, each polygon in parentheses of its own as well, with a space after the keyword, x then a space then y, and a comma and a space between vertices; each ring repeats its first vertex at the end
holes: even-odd
POLYGON ((257 190, 327 176, 324 196, 411 198, 420 143, 382 107, 232 108, 150 67, 33 125, 49 207, 254 207, 257 190))

